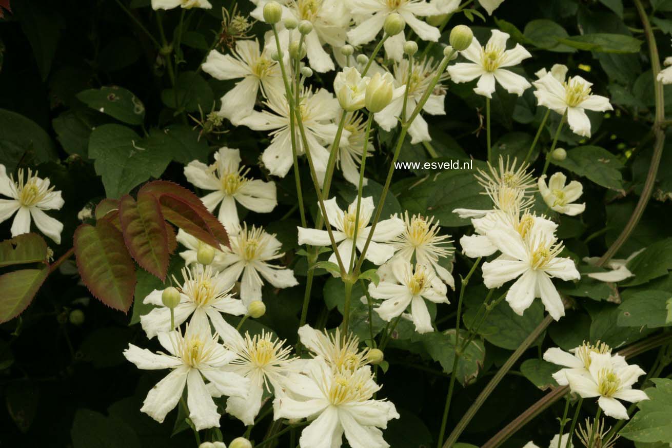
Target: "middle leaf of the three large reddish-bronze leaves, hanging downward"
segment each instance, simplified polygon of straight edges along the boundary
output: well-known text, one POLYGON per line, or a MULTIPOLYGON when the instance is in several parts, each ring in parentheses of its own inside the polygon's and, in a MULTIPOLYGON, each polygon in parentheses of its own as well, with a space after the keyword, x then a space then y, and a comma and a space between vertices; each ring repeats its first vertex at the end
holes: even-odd
POLYGON ((119 220, 126 247, 142 268, 165 280, 169 262, 168 231, 161 204, 151 194, 138 194, 138 200, 123 196, 119 220))

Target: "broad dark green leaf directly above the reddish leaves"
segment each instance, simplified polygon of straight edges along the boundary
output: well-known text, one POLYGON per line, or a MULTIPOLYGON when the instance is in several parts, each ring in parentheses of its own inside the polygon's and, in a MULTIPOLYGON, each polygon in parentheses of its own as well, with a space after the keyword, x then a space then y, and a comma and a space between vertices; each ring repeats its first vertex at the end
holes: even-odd
POLYGON ((93 130, 89 157, 95 159, 95 172, 102 176, 108 197, 120 198, 145 180, 163 174, 171 153, 147 143, 120 124, 103 124, 93 130))

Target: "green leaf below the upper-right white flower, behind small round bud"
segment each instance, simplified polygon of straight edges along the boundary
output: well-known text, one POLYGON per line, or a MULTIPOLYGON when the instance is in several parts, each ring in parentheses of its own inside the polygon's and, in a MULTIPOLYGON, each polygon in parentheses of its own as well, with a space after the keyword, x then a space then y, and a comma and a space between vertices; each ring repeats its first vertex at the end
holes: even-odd
POLYGON ((589 178, 599 186, 623 191, 623 178, 620 172, 623 163, 604 148, 580 146, 567 151, 567 158, 562 161, 551 158, 551 163, 589 178))

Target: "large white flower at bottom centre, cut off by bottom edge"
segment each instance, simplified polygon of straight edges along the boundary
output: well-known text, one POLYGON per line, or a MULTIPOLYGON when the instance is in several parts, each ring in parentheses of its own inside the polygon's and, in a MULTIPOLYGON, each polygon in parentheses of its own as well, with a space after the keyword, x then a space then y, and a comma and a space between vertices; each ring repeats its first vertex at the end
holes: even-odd
POLYGON ((399 414, 394 404, 373 399, 380 387, 370 366, 334 371, 317 358, 308 363, 307 375, 289 387, 296 392, 276 397, 274 407, 278 417, 314 418, 301 433, 301 448, 340 447, 343 433, 352 448, 389 447, 378 428, 399 414))

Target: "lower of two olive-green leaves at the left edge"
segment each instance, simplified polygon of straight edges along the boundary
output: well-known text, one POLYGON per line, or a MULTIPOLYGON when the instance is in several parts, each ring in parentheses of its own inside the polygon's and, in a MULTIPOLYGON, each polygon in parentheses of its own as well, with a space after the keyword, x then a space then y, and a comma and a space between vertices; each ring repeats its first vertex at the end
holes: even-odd
POLYGON ((30 305, 48 275, 48 267, 0 275, 0 324, 12 320, 30 305))

